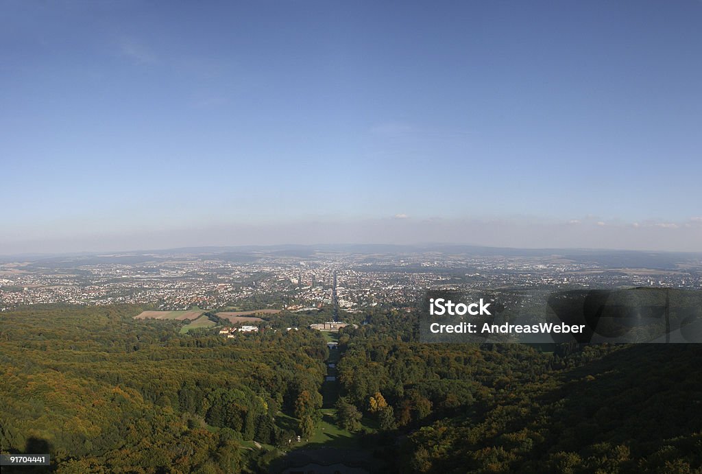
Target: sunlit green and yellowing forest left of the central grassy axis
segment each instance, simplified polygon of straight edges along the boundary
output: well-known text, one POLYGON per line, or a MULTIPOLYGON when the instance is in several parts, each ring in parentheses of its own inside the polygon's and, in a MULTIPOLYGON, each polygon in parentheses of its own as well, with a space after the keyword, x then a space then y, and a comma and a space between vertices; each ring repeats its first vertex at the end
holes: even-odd
POLYGON ((175 322, 138 312, 0 316, 4 452, 48 446, 58 472, 256 470, 247 441, 293 436, 274 423, 279 410, 314 419, 327 356, 319 333, 233 343, 178 336, 175 322))

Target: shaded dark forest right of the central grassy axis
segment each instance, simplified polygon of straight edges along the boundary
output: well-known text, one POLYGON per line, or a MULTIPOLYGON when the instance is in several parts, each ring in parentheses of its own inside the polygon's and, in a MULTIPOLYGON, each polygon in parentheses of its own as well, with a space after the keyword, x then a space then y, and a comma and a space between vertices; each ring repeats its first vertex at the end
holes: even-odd
POLYGON ((368 323, 340 338, 340 400, 376 413, 398 472, 702 472, 700 345, 422 344, 400 311, 368 323))

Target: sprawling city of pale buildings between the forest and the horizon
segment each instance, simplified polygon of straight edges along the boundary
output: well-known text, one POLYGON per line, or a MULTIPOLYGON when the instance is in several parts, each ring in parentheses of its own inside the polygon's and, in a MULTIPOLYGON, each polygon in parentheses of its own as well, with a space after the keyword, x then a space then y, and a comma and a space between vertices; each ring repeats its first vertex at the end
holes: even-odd
POLYGON ((670 268, 616 267, 560 255, 500 256, 417 251, 369 254, 311 251, 208 254, 166 252, 6 259, 0 310, 37 303, 152 304, 161 310, 223 308, 246 301, 286 310, 338 307, 362 312, 378 303, 409 305, 430 289, 702 289, 702 261, 670 268))

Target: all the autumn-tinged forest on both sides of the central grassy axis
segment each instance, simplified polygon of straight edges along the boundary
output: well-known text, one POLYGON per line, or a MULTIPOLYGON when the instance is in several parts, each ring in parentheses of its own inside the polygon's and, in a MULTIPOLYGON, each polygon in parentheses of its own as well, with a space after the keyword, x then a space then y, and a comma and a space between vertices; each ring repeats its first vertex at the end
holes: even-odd
MULTIPOLYGON (((323 334, 274 329, 290 315, 178 334, 140 309, 0 314, 3 452, 45 449, 59 473, 265 472, 319 430, 323 334)), ((334 423, 375 470, 702 472, 698 345, 423 344, 416 312, 357 322, 334 423)))

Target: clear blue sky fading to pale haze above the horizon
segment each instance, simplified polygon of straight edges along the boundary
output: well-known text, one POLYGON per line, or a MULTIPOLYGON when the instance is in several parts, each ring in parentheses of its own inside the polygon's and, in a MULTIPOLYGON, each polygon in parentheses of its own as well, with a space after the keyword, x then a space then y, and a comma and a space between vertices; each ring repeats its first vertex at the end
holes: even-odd
POLYGON ((702 251, 702 1, 0 1, 0 254, 702 251))

